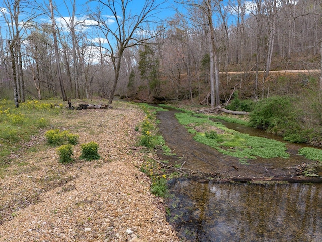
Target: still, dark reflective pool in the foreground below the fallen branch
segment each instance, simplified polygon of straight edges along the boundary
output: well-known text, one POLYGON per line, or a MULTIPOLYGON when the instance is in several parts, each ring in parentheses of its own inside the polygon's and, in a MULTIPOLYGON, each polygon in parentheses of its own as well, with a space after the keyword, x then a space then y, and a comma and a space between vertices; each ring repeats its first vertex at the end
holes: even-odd
POLYGON ((189 241, 322 241, 321 184, 169 186, 169 222, 189 241))

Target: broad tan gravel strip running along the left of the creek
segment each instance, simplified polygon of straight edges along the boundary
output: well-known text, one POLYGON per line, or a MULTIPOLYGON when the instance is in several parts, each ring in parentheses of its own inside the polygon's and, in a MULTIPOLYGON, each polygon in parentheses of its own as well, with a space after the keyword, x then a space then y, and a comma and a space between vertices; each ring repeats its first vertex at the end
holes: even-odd
POLYGON ((143 118, 135 105, 117 103, 56 120, 54 128, 79 134, 80 144, 97 142, 98 161, 62 165, 43 136, 33 152, 13 154, 0 179, 0 241, 179 241, 139 171, 146 154, 131 149, 143 118))

